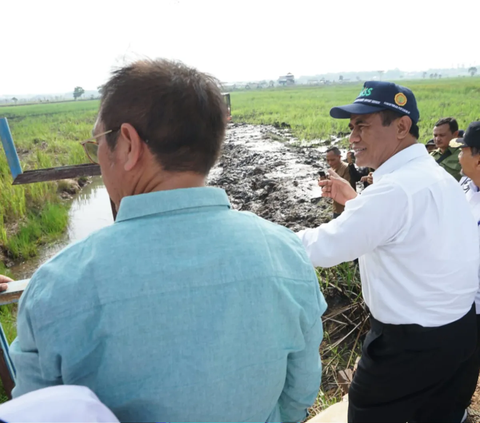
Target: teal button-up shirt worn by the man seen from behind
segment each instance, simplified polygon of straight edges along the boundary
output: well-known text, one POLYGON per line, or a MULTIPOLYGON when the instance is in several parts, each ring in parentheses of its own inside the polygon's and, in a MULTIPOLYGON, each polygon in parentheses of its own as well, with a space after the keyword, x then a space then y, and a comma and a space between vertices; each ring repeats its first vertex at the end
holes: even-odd
POLYGON ((13 396, 83 385, 121 421, 301 421, 325 309, 298 237, 223 190, 126 197, 32 277, 13 396))

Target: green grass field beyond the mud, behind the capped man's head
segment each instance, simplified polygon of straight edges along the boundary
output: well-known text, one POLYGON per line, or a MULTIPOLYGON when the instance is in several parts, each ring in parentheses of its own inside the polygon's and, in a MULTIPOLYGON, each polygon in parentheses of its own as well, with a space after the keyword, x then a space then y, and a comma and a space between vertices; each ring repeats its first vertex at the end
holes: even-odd
MULTIPOLYGON (((455 117, 463 129, 480 120, 480 78, 396 82, 410 88, 417 98, 422 142, 431 138, 435 122, 442 117, 455 117)), ((234 121, 254 124, 284 122, 301 139, 326 139, 349 132, 348 122, 332 119, 329 112, 334 106, 351 103, 361 88, 362 83, 233 92, 232 116, 234 121)))

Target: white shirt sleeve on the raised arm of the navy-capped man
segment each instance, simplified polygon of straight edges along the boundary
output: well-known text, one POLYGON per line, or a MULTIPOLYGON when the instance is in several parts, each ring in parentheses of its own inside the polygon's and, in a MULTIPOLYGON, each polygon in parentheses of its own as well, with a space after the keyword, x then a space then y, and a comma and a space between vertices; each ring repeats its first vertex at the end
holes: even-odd
POLYGON ((347 201, 337 219, 297 235, 314 266, 331 267, 401 236, 409 215, 406 192, 395 183, 378 183, 347 201))

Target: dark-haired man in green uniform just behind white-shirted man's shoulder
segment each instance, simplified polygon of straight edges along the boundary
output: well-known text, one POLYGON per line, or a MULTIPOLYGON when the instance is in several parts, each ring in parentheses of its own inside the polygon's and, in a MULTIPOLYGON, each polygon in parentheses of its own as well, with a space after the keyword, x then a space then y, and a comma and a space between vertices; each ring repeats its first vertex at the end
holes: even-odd
POLYGON ((457 181, 460 180, 460 149, 450 145, 450 141, 458 137, 458 123, 452 117, 440 119, 433 128, 433 139, 437 147, 430 155, 457 181))

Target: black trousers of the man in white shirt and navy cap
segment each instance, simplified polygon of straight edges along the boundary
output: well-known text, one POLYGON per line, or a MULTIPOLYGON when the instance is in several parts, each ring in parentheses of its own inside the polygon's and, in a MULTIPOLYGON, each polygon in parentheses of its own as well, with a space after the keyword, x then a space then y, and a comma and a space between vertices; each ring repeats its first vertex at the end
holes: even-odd
MULTIPOLYGON (((348 393, 348 421, 460 422, 477 344, 475 308, 436 328, 387 325, 371 318, 348 393)), ((477 373, 478 375, 478 373, 477 373)))

